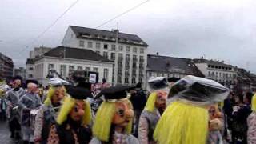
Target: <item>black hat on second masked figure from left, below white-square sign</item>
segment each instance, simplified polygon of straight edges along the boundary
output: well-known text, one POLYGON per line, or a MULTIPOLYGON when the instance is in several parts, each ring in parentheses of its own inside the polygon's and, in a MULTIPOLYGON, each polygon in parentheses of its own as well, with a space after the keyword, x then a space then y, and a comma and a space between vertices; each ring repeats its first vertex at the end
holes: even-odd
POLYGON ((86 99, 86 98, 92 98, 92 94, 89 90, 82 88, 82 87, 76 87, 71 85, 66 85, 66 93, 70 94, 70 96, 74 99, 86 99))

